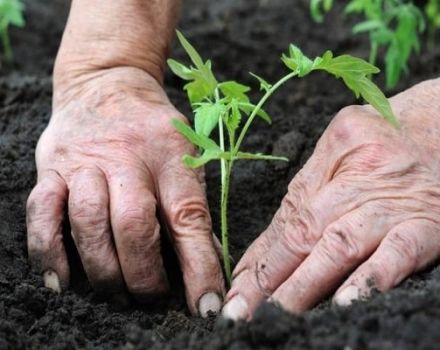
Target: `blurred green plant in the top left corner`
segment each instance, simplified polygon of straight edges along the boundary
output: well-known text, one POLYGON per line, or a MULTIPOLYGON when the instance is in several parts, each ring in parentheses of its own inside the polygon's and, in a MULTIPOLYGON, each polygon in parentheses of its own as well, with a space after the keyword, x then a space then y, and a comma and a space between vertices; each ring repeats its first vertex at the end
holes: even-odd
POLYGON ((9 39, 9 26, 23 27, 24 5, 20 0, 0 0, 0 39, 4 61, 11 64, 14 57, 9 39))

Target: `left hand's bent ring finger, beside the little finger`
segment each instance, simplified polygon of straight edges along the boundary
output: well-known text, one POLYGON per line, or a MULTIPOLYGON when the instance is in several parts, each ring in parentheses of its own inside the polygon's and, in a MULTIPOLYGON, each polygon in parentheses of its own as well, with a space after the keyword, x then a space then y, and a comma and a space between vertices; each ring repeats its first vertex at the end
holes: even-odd
POLYGON ((123 279, 112 242, 105 175, 98 168, 81 169, 69 181, 72 236, 87 278, 104 294, 122 293, 123 279))

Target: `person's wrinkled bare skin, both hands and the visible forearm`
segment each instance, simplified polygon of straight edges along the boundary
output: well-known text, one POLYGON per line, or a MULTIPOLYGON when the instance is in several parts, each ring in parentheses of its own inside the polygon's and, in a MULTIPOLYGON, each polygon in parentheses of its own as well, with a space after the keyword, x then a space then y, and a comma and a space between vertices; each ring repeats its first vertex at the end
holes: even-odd
MULTIPOLYGON (((167 234, 193 314, 219 312, 224 280, 202 171, 174 130, 163 91, 177 0, 73 0, 54 69, 51 121, 28 199, 29 258, 68 288, 67 211, 87 277, 110 296, 168 290, 167 234)), ((273 222, 238 262, 223 314, 250 319, 270 300, 292 312, 336 291, 341 305, 387 291, 440 256, 440 80, 391 99, 401 123, 368 106, 341 111, 289 185, 273 222)), ((233 234, 233 233, 232 233, 233 234)))

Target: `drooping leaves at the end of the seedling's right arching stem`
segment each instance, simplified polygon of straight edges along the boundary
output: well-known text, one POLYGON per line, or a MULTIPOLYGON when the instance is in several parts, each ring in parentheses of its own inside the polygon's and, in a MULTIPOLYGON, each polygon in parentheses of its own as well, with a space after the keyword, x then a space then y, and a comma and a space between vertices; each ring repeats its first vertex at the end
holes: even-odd
POLYGON ((369 79, 371 74, 380 72, 374 65, 350 55, 333 57, 331 51, 327 51, 322 57, 317 57, 312 61, 294 45, 290 46, 289 55, 283 55, 282 60, 299 77, 315 70, 324 70, 336 78, 341 78, 357 98, 362 97, 393 126, 399 125, 385 95, 369 79))

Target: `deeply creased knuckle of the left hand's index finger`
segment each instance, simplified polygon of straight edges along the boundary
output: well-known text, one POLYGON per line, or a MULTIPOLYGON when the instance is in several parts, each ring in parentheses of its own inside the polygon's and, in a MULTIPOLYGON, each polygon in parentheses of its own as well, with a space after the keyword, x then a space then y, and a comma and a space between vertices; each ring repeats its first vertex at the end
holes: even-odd
POLYGON ((168 215, 176 235, 211 233, 211 216, 206 201, 202 198, 193 197, 172 203, 168 215))

